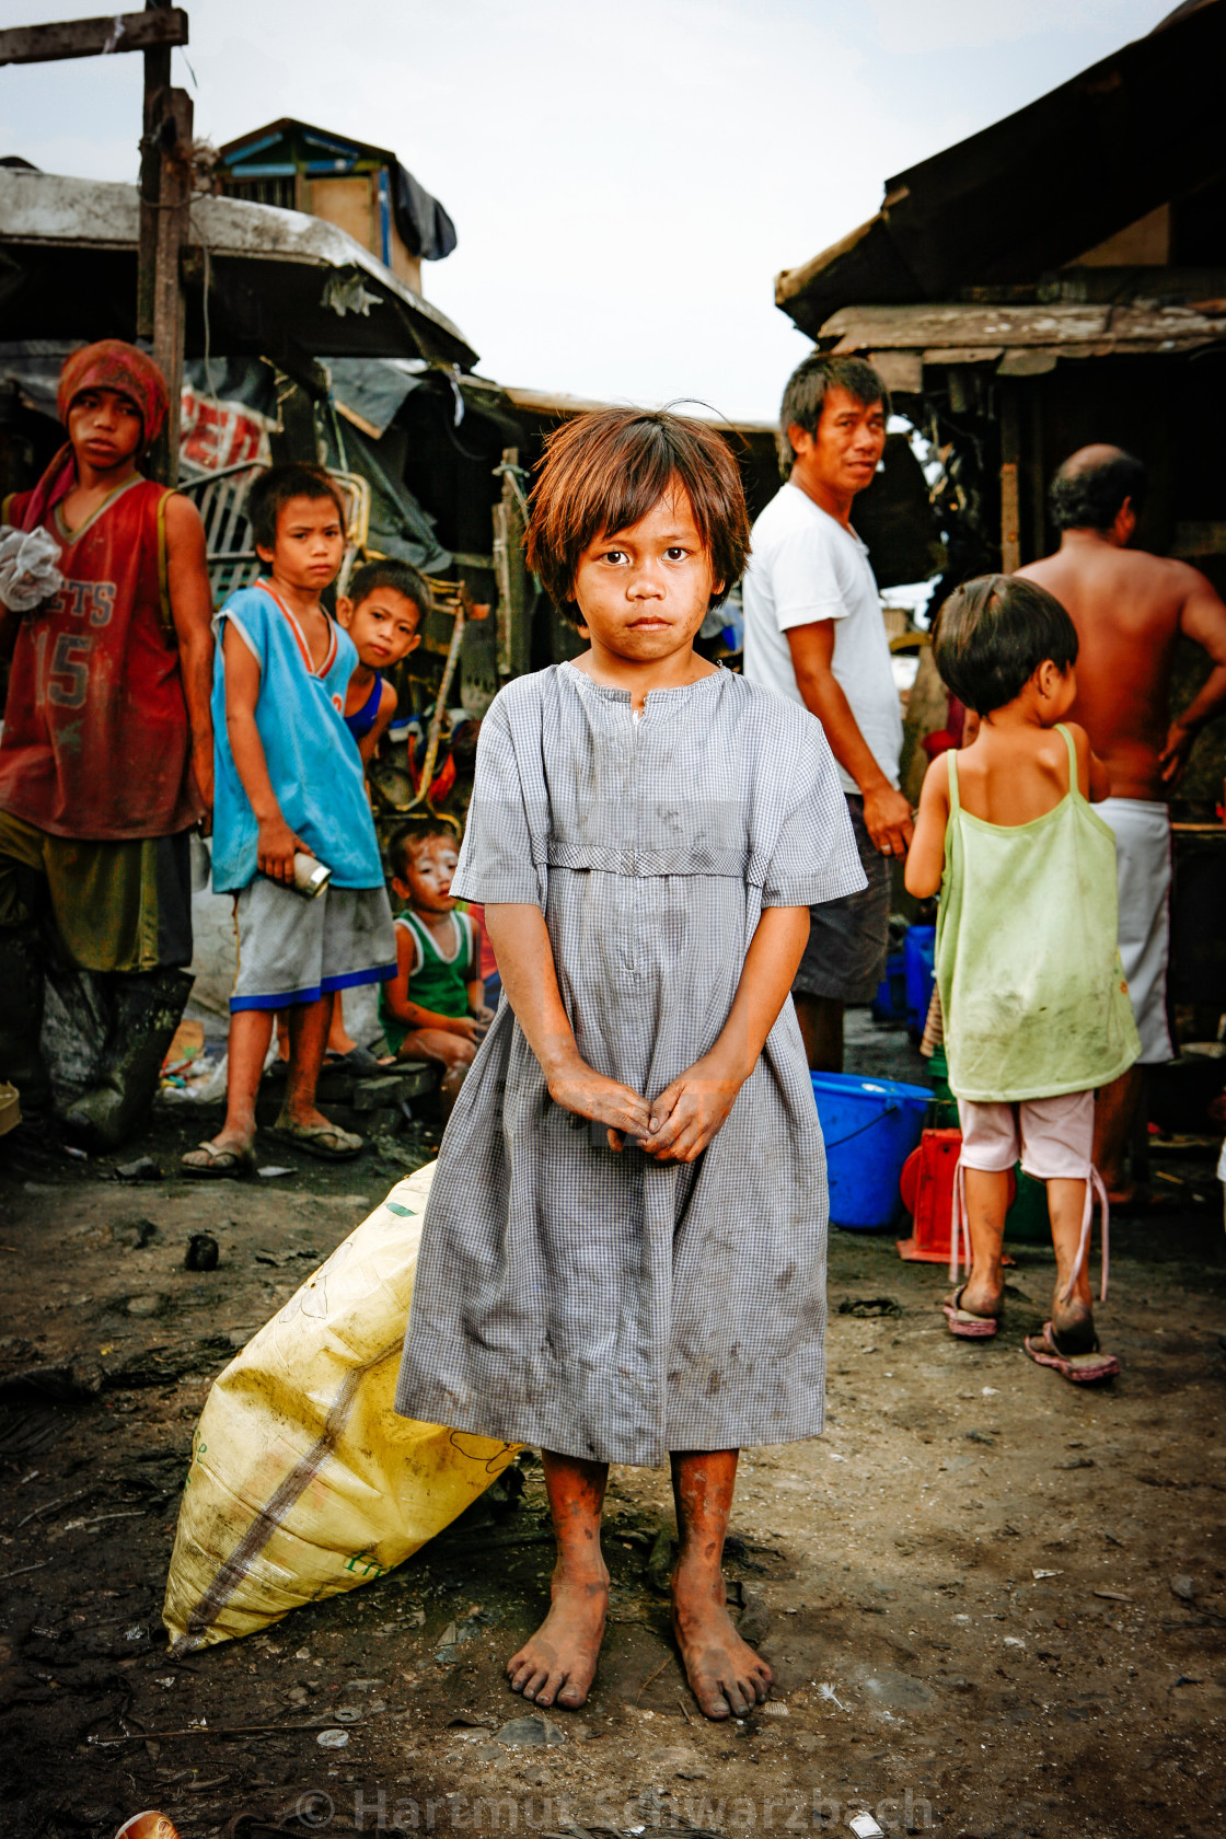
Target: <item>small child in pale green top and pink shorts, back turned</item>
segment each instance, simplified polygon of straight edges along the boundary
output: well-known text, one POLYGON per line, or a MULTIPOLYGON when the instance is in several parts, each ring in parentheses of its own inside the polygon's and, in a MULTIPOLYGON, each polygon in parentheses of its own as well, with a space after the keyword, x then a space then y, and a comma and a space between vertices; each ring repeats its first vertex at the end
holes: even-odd
POLYGON ((1062 717, 1077 693, 1077 633, 1033 581, 967 581, 941 609, 934 658, 980 715, 969 747, 932 761, 906 886, 941 890, 936 975, 948 1083, 961 1118, 954 1271, 969 1234, 971 1276, 943 1304, 961 1339, 996 1333, 1009 1175, 1022 1160, 1048 1184, 1057 1284, 1051 1320, 1026 1352, 1077 1383, 1110 1379, 1099 1350, 1086 1251, 1094 1192, 1094 1091, 1140 1054, 1116 943, 1116 840, 1088 800, 1108 772, 1084 728, 1062 717))

